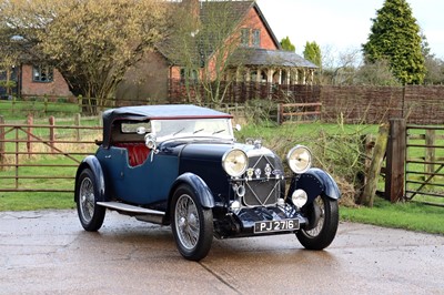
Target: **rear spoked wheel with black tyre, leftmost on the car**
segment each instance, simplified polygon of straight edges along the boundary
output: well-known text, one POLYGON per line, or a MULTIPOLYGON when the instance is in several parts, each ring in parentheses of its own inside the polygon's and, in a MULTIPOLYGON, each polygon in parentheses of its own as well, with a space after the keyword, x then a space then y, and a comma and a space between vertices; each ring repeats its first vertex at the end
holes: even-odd
POLYGON ((75 187, 77 213, 80 223, 88 232, 97 232, 103 224, 105 207, 99 206, 99 190, 90 169, 80 173, 75 187))

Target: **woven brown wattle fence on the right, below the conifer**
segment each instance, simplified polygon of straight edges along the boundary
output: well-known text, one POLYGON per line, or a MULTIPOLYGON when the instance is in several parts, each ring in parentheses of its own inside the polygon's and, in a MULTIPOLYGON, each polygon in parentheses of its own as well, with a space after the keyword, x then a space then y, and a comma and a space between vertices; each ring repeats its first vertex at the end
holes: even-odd
POLYGON ((444 87, 322 87, 323 122, 444 124, 444 87))

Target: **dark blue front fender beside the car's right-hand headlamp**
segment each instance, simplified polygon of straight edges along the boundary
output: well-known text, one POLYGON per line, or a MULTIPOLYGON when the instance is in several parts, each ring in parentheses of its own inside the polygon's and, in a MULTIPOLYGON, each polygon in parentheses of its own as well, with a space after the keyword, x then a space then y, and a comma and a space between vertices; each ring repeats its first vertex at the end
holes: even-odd
POLYGON ((333 177, 325 171, 316 167, 293 176, 287 195, 290 200, 294 190, 297 189, 306 192, 309 195, 307 203, 313 202, 313 200, 321 194, 325 194, 333 200, 339 200, 341 197, 340 189, 333 177))

